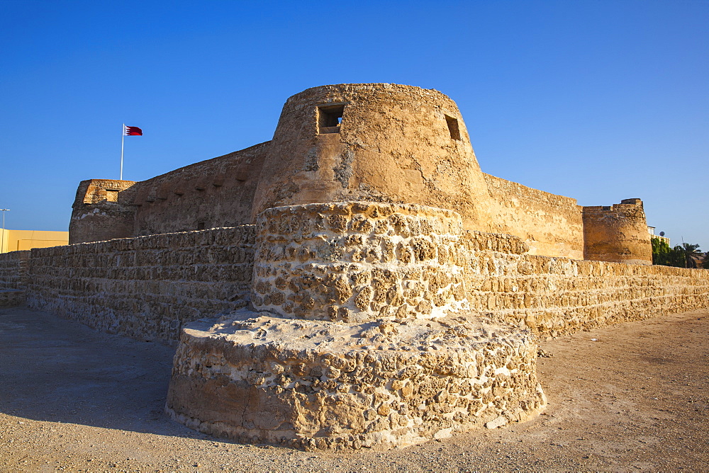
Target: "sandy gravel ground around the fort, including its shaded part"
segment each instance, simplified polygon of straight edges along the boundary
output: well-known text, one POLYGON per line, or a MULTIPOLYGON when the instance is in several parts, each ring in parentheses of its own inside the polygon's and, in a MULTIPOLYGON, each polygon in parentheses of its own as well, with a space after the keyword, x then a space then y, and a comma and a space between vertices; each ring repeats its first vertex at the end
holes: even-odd
POLYGON ((415 447, 241 445, 162 413, 172 349, 0 309, 1 471, 709 469, 709 311, 543 342, 534 421, 415 447), (542 354, 543 354, 542 353, 542 354))

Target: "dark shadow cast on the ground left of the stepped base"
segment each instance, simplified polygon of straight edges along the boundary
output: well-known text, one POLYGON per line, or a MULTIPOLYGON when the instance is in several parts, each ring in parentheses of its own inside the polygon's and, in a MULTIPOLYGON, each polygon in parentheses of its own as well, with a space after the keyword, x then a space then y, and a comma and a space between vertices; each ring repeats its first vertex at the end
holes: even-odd
POLYGON ((174 348, 0 309, 0 412, 37 421, 200 435, 163 412, 174 348))

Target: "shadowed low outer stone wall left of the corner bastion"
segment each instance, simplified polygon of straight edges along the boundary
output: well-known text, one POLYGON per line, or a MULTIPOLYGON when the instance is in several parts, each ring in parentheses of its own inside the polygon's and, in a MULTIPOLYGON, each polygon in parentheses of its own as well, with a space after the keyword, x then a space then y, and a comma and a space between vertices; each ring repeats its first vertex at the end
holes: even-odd
POLYGON ((245 225, 33 249, 28 306, 174 343, 185 322, 246 304, 254 241, 245 225))

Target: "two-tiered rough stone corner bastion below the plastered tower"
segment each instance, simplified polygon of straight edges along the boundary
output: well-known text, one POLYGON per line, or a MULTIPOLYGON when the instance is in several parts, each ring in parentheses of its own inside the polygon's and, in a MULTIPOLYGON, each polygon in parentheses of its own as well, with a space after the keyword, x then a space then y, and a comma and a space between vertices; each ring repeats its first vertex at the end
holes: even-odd
POLYGON ((252 309, 184 330, 166 408, 177 421, 357 449, 544 409, 532 333, 469 310, 455 212, 295 205, 262 212, 257 228, 252 309))

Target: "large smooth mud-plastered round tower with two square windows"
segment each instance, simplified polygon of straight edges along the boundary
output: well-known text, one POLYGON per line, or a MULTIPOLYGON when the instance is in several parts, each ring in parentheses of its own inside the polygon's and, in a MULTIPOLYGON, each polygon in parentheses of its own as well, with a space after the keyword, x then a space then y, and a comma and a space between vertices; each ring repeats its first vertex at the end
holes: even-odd
POLYGON ((252 217, 351 200, 447 208, 464 228, 487 230, 490 196, 455 103, 395 84, 320 86, 289 98, 252 217))

